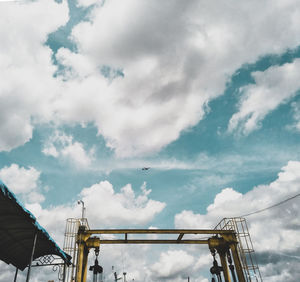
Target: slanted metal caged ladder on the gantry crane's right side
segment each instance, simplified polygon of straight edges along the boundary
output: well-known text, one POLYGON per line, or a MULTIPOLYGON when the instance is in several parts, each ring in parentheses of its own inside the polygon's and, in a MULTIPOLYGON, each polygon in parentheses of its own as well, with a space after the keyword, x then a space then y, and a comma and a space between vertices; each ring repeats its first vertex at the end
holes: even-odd
POLYGON ((263 281, 258 268, 246 219, 242 217, 223 218, 215 229, 232 230, 236 233, 239 242, 237 245, 238 253, 247 282, 263 281))

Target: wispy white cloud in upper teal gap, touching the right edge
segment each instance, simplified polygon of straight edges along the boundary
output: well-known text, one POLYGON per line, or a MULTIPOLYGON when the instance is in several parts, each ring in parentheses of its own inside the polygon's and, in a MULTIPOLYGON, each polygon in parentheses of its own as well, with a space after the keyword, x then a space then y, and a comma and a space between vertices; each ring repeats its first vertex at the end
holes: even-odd
MULTIPOLYGON (((249 134, 260 127, 260 121, 282 103, 288 102, 300 89, 300 59, 264 72, 252 73, 255 84, 241 89, 239 111, 230 119, 229 131, 249 134)), ((294 104, 294 109, 296 105, 294 104)), ((295 112, 297 119, 297 110, 295 112)))

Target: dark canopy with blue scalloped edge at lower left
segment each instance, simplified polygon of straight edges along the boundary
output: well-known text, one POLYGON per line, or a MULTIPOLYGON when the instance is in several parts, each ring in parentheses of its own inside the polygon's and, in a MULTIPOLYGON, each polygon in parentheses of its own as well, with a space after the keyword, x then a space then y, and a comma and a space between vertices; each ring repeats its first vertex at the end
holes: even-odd
POLYGON ((33 259, 52 254, 70 264, 71 257, 58 247, 34 215, 20 204, 0 180, 0 260, 24 270, 30 263, 36 233, 33 259))

